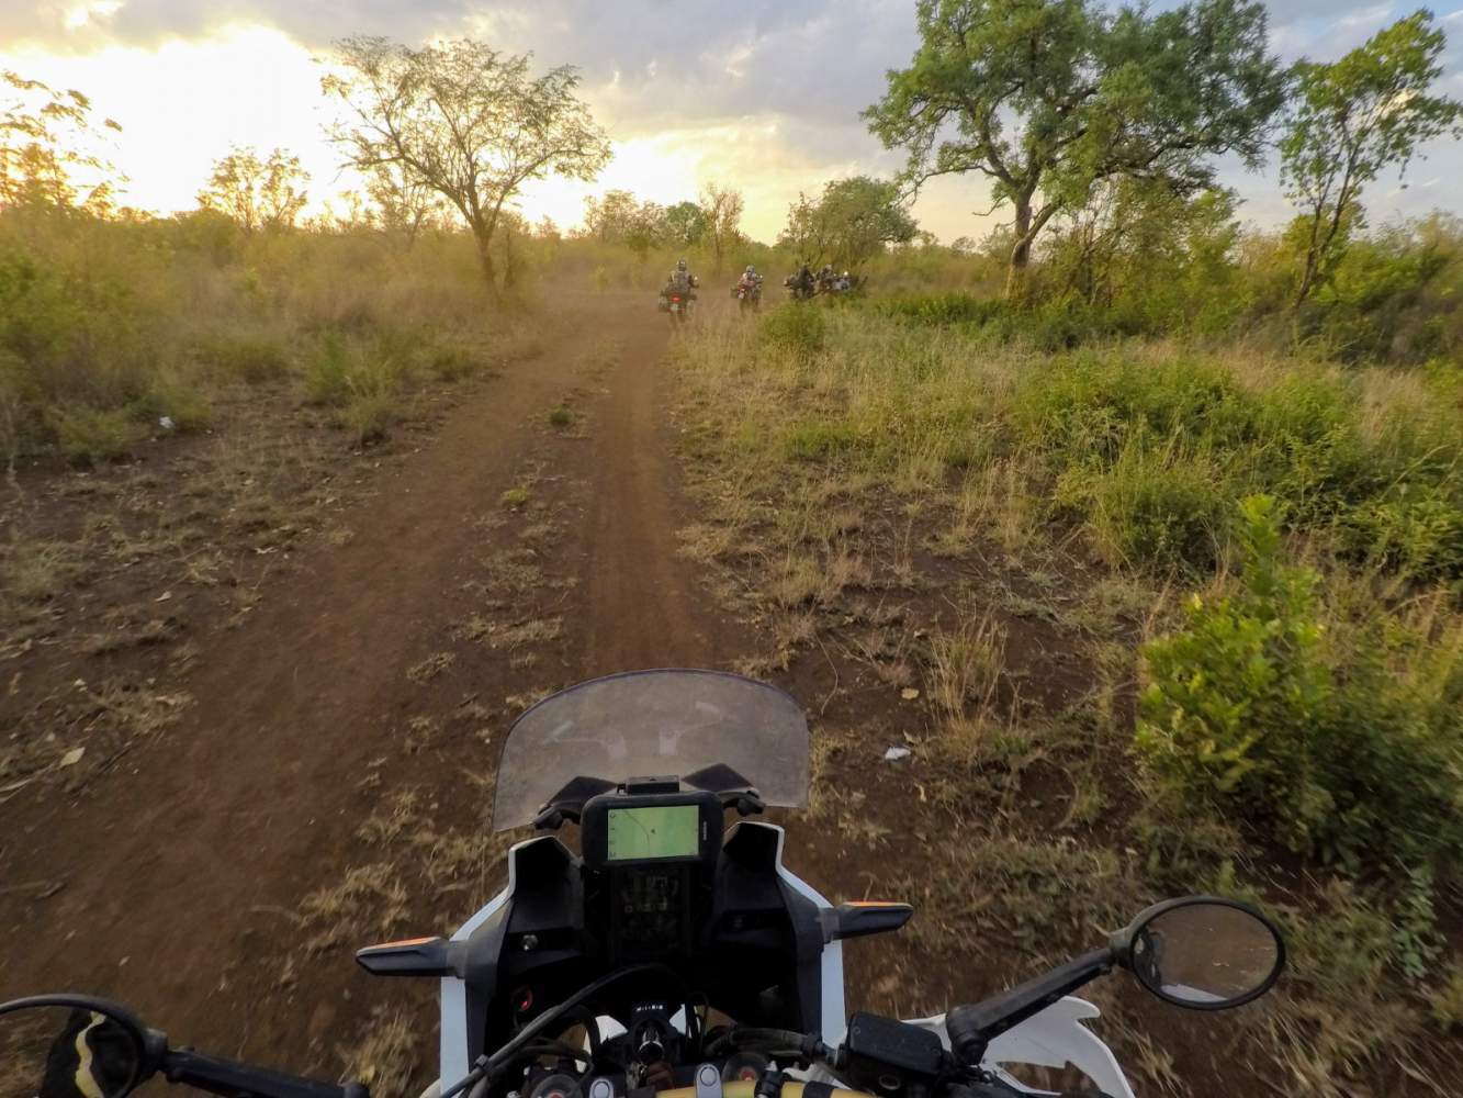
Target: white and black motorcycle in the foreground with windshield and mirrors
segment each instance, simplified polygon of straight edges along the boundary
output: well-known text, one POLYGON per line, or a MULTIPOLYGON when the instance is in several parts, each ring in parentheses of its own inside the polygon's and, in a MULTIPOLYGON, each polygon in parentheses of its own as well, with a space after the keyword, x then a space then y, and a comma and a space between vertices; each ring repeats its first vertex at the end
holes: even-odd
MULTIPOLYGON (((1264 915, 1186 896, 982 1003, 849 1017, 843 943, 895 931, 913 911, 830 903, 784 864, 783 829, 752 817, 802 805, 808 774, 802 707, 737 675, 613 675, 525 712, 503 745, 493 826, 543 834, 509 851, 508 884, 451 938, 357 953, 369 972, 439 981, 427 1095, 1011 1098, 1048 1094, 1012 1064, 1069 1063, 1102 1094, 1132 1098, 1086 1025, 1096 1007, 1072 991, 1122 968, 1167 1003, 1223 1010, 1264 994, 1285 965, 1264 915), (553 834, 571 824, 579 854, 553 834)), ((102 998, 0 1006, 0 1098, 126 1098, 158 1075, 236 1098, 367 1098, 360 1083, 173 1048, 102 998)))

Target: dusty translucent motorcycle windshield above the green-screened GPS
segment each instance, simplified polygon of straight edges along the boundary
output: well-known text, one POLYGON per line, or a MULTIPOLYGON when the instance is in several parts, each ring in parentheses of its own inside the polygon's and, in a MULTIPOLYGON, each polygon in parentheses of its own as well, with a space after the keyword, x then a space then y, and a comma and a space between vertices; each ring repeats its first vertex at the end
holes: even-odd
POLYGON ((770 805, 808 798, 808 720, 790 695, 718 671, 636 671, 553 694, 508 729, 494 830, 533 823, 576 777, 685 777, 723 764, 770 805))

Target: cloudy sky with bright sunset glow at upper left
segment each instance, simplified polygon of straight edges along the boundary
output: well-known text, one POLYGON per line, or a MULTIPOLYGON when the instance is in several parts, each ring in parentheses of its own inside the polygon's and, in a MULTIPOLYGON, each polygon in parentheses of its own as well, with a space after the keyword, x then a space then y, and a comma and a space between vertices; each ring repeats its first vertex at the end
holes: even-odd
MULTIPOLYGON (((1285 60, 1330 60, 1415 7, 1273 0, 1271 42, 1285 60)), ((1463 98, 1463 6, 1437 13, 1450 38, 1441 89, 1463 98)), ((521 203, 565 228, 591 193, 623 187, 670 203, 715 182, 743 192, 743 230, 771 242, 799 192, 903 163, 859 111, 914 53, 913 0, 0 0, 0 69, 76 88, 123 126, 107 152, 127 176, 129 205, 190 209, 209 165, 252 145, 297 154, 319 209, 358 187, 323 136, 331 108, 319 91, 331 42, 351 34, 413 45, 467 35, 531 51, 541 67, 579 66, 614 160, 595 183, 550 179, 521 203)), ((1463 214, 1463 145, 1425 152, 1406 187, 1384 177, 1365 195, 1374 223, 1463 214)), ((1222 182, 1246 220, 1287 215, 1273 165, 1223 164, 1222 182)), ((925 187, 914 214, 949 242, 1007 220, 986 215, 989 205, 982 177, 947 177, 925 187)))

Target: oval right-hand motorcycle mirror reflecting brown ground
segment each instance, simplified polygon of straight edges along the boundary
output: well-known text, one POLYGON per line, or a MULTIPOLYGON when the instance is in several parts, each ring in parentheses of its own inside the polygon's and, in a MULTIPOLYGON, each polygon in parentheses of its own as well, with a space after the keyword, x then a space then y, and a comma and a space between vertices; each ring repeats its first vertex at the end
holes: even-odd
POLYGON ((1128 930, 1128 968, 1154 996, 1195 1010, 1227 1010, 1268 991, 1285 968, 1280 931, 1235 900, 1170 900, 1128 930))

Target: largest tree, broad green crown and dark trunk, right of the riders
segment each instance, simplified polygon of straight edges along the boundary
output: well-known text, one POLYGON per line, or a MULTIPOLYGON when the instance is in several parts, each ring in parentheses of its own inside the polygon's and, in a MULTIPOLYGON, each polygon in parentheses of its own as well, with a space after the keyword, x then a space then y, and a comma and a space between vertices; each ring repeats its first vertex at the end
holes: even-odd
POLYGON ((920 47, 865 111, 906 176, 980 173, 1014 212, 1008 296, 1024 291, 1031 244, 1093 184, 1213 182, 1213 158, 1258 165, 1285 76, 1257 0, 1195 0, 1167 12, 1090 0, 920 0, 920 47))

